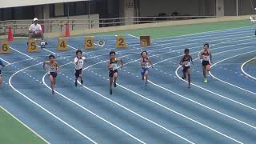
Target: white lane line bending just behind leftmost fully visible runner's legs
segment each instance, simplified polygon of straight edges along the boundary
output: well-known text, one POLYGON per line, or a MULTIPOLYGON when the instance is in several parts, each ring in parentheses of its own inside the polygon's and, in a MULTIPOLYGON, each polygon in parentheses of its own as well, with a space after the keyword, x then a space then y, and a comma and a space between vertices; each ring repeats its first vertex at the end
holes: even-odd
MULTIPOLYGON (((42 77, 42 82, 43 82, 43 84, 44 84, 48 89, 50 89, 50 86, 48 86, 48 85, 46 84, 46 82, 45 82, 45 78, 46 78, 46 74, 44 74, 44 76, 42 77)), ((86 109, 86 107, 84 107, 84 106, 81 106, 80 104, 78 104, 78 102, 74 102, 72 99, 67 98, 65 95, 59 93, 57 90, 55 90, 55 93, 57 93, 57 94, 59 94, 60 96, 62 96, 62 98, 65 98, 66 100, 68 100, 68 101, 74 103, 76 106, 79 106, 80 108, 82 108, 82 110, 86 110, 88 113, 90 113, 90 114, 94 115, 95 117, 101 119, 103 122, 106 122, 106 123, 110 124, 110 126, 114 126, 116 129, 121 130, 123 133, 129 135, 131 138, 134 138, 134 139, 137 140, 138 142, 141 142, 141 143, 143 143, 143 144, 146 144, 146 142, 142 142, 142 140, 140 140, 140 139, 134 137, 134 135, 132 135, 132 134, 126 132, 126 130, 122 130, 122 128, 120 128, 120 127, 114 125, 112 122, 109 122, 109 121, 107 121, 106 119, 104 119, 104 118, 98 116, 97 114, 94 114, 94 112, 92 112, 92 111, 86 109)))

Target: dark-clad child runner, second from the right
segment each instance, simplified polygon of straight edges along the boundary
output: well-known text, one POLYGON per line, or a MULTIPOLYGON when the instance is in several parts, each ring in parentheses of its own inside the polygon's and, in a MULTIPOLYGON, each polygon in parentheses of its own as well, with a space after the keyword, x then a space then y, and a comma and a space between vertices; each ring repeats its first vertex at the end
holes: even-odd
POLYGON ((188 77, 188 82, 189 82, 189 86, 188 88, 190 89, 190 82, 191 82, 191 77, 190 77, 190 66, 191 63, 194 65, 192 56, 190 55, 190 50, 189 49, 185 49, 184 50, 184 56, 182 57, 181 62, 179 62, 180 65, 182 65, 183 67, 183 76, 182 79, 186 79, 186 76, 188 77))

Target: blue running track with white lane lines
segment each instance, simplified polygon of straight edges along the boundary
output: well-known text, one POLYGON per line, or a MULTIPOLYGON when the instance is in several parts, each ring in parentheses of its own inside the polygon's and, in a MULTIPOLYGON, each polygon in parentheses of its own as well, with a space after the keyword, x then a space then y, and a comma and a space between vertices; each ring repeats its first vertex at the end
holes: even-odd
POLYGON ((57 39, 46 50, 26 53, 26 40, 12 42, 13 54, 1 55, 4 84, 0 105, 50 143, 255 143, 256 89, 254 26, 154 39, 148 50, 154 69, 145 87, 140 79, 139 40, 126 35, 128 48, 116 50, 114 36, 107 46, 85 51, 84 85, 74 87, 76 49, 83 38, 68 39, 69 50, 58 52, 57 39), (210 43, 214 65, 202 82, 198 52, 210 43), (178 62, 190 48, 192 87, 180 78, 178 62), (110 50, 126 63, 118 87, 110 96, 106 60, 110 50), (56 94, 42 62, 55 54, 62 70, 56 94), (245 73, 246 72, 246 73, 245 73), (251 77, 248 76, 250 74, 251 77))

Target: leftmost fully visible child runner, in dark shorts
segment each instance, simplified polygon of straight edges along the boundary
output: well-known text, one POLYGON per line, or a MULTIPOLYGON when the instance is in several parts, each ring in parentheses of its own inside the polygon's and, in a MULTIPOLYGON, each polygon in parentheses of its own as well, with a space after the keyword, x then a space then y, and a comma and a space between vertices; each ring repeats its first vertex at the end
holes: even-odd
POLYGON ((46 70, 46 65, 48 66, 48 76, 50 78, 50 87, 52 94, 54 94, 54 86, 56 84, 57 80, 57 73, 60 69, 60 66, 58 66, 58 63, 55 60, 54 55, 49 56, 49 61, 43 62, 43 69, 46 70))

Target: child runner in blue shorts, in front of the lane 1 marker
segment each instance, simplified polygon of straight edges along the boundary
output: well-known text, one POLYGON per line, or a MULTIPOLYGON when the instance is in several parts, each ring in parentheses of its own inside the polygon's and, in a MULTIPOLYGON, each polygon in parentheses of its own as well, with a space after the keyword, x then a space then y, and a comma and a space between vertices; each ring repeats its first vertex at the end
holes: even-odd
POLYGON ((147 86, 147 80, 149 78, 149 68, 150 68, 150 65, 151 65, 152 68, 154 68, 154 66, 153 66, 152 62, 150 61, 150 58, 147 57, 147 52, 146 51, 142 51, 141 55, 142 55, 142 58, 141 58, 142 81, 144 81, 144 79, 146 78, 145 86, 147 86))

